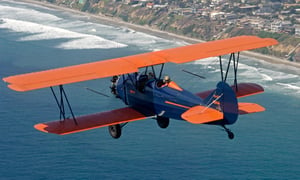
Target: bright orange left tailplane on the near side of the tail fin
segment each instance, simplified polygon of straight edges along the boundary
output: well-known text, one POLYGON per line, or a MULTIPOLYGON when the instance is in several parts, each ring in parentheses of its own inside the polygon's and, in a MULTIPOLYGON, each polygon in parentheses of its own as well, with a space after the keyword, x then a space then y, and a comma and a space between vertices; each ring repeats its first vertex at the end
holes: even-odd
POLYGON ((184 112, 181 118, 193 124, 203 124, 223 119, 223 113, 209 107, 195 106, 184 112))

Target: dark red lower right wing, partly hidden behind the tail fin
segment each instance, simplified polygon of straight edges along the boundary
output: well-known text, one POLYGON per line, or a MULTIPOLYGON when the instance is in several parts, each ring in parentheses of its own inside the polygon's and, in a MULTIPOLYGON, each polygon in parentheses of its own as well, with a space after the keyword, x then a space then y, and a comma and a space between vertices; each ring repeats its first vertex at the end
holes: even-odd
MULTIPOLYGON (((232 85, 231 88, 235 92, 237 98, 252 96, 264 92, 264 88, 255 83, 239 83, 237 84, 237 88, 235 85, 232 85)), ((205 99, 214 90, 215 89, 196 93, 196 95, 202 99, 205 99)))

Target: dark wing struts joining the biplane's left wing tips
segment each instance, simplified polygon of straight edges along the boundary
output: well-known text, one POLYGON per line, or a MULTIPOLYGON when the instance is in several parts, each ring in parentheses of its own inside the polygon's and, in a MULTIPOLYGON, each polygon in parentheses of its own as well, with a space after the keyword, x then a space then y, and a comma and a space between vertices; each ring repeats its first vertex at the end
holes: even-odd
POLYGON ((65 111, 65 101, 66 101, 67 106, 68 106, 68 108, 69 108, 69 110, 70 110, 70 113, 71 113, 71 115, 72 115, 73 121, 74 121, 74 123, 75 123, 76 125, 78 125, 78 123, 77 123, 77 121, 76 121, 76 118, 75 118, 75 115, 74 115, 74 113, 73 113, 71 104, 70 104, 70 102, 69 102, 69 100, 68 100, 68 97, 67 97, 67 95, 66 95, 66 92, 65 92, 65 90, 64 90, 63 85, 59 85, 59 97, 60 97, 60 98, 57 97, 57 95, 56 95, 56 93, 54 92, 54 89, 53 89, 52 86, 50 87, 50 89, 51 89, 51 92, 52 92, 52 94, 53 94, 53 96, 54 96, 54 99, 55 99, 55 101, 56 101, 56 104, 57 104, 57 106, 58 106, 58 108, 59 108, 59 112, 60 112, 59 118, 60 118, 60 120, 66 120, 66 119, 69 119, 68 117, 66 117, 66 111, 65 111))

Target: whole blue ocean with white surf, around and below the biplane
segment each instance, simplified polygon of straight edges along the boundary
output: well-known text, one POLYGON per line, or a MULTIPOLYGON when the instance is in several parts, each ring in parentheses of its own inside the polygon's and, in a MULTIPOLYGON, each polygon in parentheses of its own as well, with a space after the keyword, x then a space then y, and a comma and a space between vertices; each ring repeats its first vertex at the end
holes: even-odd
MULTIPOLYGON (((0 77, 185 45, 89 16, 12 0, 0 1, 0 77)), ((241 57, 239 82, 263 94, 240 99, 265 112, 240 116, 229 126, 152 119, 132 122, 115 140, 107 128, 58 136, 34 124, 57 120, 51 91, 15 92, 0 81, 0 179, 298 179, 300 177, 300 76, 293 67, 241 57)), ((165 74, 185 89, 213 89, 217 58, 166 64, 165 74), (191 76, 182 69, 205 76, 191 76)), ((232 76, 231 76, 232 77, 232 76)), ((232 80, 232 78, 231 78, 232 80)), ((76 115, 124 107, 110 95, 110 78, 66 85, 76 115)))

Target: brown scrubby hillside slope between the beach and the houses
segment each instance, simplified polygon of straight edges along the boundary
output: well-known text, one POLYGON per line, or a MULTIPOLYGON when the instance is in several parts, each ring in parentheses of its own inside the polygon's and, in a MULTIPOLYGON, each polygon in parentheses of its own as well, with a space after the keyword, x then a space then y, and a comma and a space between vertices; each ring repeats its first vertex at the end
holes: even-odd
POLYGON ((134 6, 110 0, 48 0, 48 2, 204 41, 237 35, 271 37, 277 39, 280 44, 256 51, 262 54, 300 61, 300 59, 296 59, 300 57, 297 54, 297 45, 300 43, 300 38, 285 33, 259 31, 251 27, 241 28, 235 25, 224 24, 220 20, 195 17, 193 14, 178 15, 172 7, 149 8, 146 7, 146 4, 134 6))

